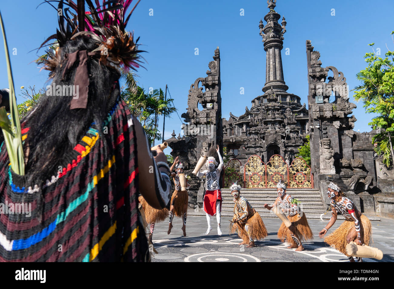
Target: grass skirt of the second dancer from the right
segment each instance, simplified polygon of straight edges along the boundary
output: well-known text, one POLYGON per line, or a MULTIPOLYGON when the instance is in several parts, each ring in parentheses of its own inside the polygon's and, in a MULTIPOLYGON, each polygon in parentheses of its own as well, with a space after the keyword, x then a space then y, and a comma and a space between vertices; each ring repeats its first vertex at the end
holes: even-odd
MULTIPOLYGON (((296 226, 296 233, 297 236, 300 238, 300 241, 307 241, 313 239, 312 230, 309 227, 307 217, 305 217, 305 213, 303 212, 302 217, 299 217, 299 214, 294 216, 287 216, 290 222, 294 226, 296 226)), ((282 222, 282 225, 279 227, 278 230, 278 238, 281 239, 282 242, 286 240, 287 243, 291 245, 297 245, 292 238, 292 234, 288 228, 282 222)))

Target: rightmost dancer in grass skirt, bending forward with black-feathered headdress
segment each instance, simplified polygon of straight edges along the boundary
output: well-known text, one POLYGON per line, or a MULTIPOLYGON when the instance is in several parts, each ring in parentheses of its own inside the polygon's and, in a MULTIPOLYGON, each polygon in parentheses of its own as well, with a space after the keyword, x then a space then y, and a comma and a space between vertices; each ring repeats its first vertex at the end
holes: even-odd
MULTIPOLYGON (((325 237, 324 241, 336 250, 348 256, 350 262, 355 262, 352 256, 346 252, 346 245, 355 242, 357 245, 369 245, 372 236, 371 221, 359 210, 353 201, 348 199, 345 191, 350 189, 343 180, 336 178, 328 185, 327 195, 331 199, 332 216, 325 228, 319 232, 319 237, 323 238, 325 233, 334 225, 336 216, 341 214, 345 221, 331 234, 325 237)), ((357 261, 362 261, 357 258, 357 261)))

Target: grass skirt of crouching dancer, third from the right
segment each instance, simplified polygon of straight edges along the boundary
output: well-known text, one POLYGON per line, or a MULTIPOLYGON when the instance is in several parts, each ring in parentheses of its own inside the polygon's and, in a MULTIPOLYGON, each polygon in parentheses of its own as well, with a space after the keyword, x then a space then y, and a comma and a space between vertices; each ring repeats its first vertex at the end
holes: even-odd
POLYGON ((268 236, 266 226, 260 215, 255 212, 252 217, 247 219, 246 223, 231 223, 230 224, 230 234, 237 232, 238 236, 245 242, 249 241, 249 236, 245 231, 245 225, 249 225, 250 237, 251 239, 261 240, 268 236))

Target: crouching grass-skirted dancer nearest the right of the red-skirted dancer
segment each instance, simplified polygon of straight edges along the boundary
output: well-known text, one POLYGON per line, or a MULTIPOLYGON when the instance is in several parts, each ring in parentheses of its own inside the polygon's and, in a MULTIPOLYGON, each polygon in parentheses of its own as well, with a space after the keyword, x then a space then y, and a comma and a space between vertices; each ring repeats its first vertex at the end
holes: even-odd
POLYGON ((266 226, 247 199, 241 197, 241 186, 237 182, 232 183, 230 190, 235 202, 230 234, 238 233, 238 236, 242 239, 242 243, 239 245, 247 244, 247 248, 255 247, 255 239, 261 240, 268 236, 266 226))

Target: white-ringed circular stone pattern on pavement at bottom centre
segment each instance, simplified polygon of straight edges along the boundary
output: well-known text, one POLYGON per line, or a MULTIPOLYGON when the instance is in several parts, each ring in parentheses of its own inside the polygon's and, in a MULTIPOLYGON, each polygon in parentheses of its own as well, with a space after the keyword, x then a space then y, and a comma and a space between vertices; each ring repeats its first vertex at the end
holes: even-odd
POLYGON ((185 258, 185 262, 261 262, 260 259, 248 254, 229 252, 206 252, 193 254, 185 258))

